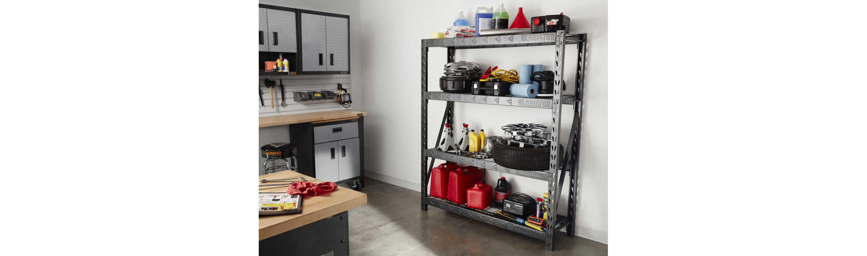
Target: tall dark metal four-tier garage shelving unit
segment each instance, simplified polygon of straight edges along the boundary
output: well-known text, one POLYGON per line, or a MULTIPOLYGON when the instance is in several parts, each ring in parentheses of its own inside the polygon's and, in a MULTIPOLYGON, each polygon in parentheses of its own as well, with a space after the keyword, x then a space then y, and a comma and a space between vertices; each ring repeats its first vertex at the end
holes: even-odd
MULTIPOLYGON (((421 40, 421 209, 427 210, 427 206, 442 208, 447 211, 461 214, 466 217, 473 218, 478 221, 483 221, 488 224, 503 227, 519 234, 525 234, 545 241, 545 249, 548 251, 554 250, 554 233, 560 229, 566 228, 566 234, 569 236, 575 235, 575 206, 577 196, 577 171, 578 171, 578 145, 581 140, 581 109, 583 107, 583 69, 585 60, 585 50, 587 48, 587 34, 570 35, 564 31, 554 33, 531 34, 531 35, 499 35, 499 36, 482 36, 482 37, 466 37, 466 38, 444 38, 444 39, 423 39, 421 40), (563 80, 564 74, 564 54, 566 45, 577 45, 577 68, 575 71, 575 95, 564 95, 566 88, 563 80), (427 49, 432 47, 447 48, 447 61, 454 61, 455 49, 465 48, 508 48, 508 47, 525 47, 538 45, 554 45, 554 97, 551 99, 530 99, 518 97, 498 97, 486 95, 473 95, 466 93, 444 93, 444 92, 428 92, 427 91, 427 49), (440 123, 440 132, 442 133, 442 124, 452 123, 452 112, 454 111, 455 102, 491 104, 500 106, 521 106, 531 108, 544 108, 551 110, 551 163, 550 169, 547 171, 531 171, 531 170, 513 170, 499 166, 499 164, 483 159, 472 157, 462 157, 453 153, 443 152, 436 148, 428 148, 427 146, 427 103, 428 100, 444 100, 446 103, 446 111, 443 113, 442 122, 440 123), (566 151, 562 166, 559 162, 558 139, 560 138, 560 118, 561 109, 564 104, 573 104, 574 112, 572 115, 572 127, 569 132, 569 139, 566 143, 566 151), (427 158, 430 157, 428 164, 427 158), (560 198, 560 193, 564 185, 564 177, 566 172, 569 172, 569 209, 567 215, 548 215, 547 232, 538 231, 532 227, 525 226, 516 221, 509 220, 499 214, 493 214, 493 206, 486 210, 478 210, 467 208, 466 204, 456 204, 447 200, 432 197, 427 194, 427 182, 430 180, 431 170, 433 170, 433 161, 435 159, 446 160, 454 163, 462 163, 475 167, 496 170, 516 176, 525 176, 548 182, 548 195, 555 200, 555 203, 549 205, 551 213, 557 213, 557 200, 560 198), (552 224, 553 223, 553 224, 552 224)), ((437 141, 440 141, 438 135, 437 141)), ((497 208, 499 209, 499 208, 497 208)))

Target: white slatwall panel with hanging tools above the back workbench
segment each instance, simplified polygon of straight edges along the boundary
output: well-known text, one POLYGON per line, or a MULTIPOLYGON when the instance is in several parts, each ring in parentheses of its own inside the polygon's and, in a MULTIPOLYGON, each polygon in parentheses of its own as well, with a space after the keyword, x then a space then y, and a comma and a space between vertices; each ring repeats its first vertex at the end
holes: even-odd
MULTIPOLYGON (((288 114, 298 114, 307 112, 323 112, 333 110, 350 110, 337 104, 335 99, 319 99, 296 102, 293 92, 313 92, 313 91, 332 91, 337 93, 337 83, 340 83, 343 88, 352 93, 352 83, 349 75, 272 75, 259 76, 259 88, 262 89, 262 99, 265 101, 265 106, 261 106, 259 99, 256 99, 256 106, 259 106, 259 117, 282 116, 288 114), (268 87, 264 85, 264 79, 276 80, 277 86, 274 86, 274 108, 271 108, 271 93, 268 92, 268 87), (283 79, 283 85, 286 90, 286 106, 280 106, 280 80, 283 79)), ((258 93, 258 92, 257 92, 258 93)), ((256 95, 258 97, 258 95, 256 95)), ((350 96, 351 97, 351 96, 350 96)))

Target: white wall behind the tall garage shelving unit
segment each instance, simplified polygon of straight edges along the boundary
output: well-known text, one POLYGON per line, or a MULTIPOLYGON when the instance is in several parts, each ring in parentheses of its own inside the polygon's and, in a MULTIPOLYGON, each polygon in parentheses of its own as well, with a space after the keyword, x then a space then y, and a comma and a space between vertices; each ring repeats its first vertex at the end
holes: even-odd
MULTIPOLYGON (((510 16, 524 7, 531 16, 564 12, 570 16, 570 32, 589 34, 584 95, 581 163, 579 166, 578 235, 608 243, 608 3, 589 1, 396 1, 361 0, 362 82, 370 114, 365 125, 365 168, 368 176, 420 189, 420 39, 430 32, 442 32, 459 11, 472 19, 476 7, 505 3, 510 16), (388 22, 394 21, 394 22, 388 22), (395 30, 381 30, 388 22, 395 30), (387 32, 387 33, 386 33, 387 32)), ((576 49, 567 48, 566 70, 576 67, 576 49)), ((528 48, 485 48, 458 50, 456 61, 475 61, 483 66, 518 69, 520 64, 553 66, 553 46, 528 48)), ((445 48, 431 48, 428 53, 428 88, 439 90, 445 48)), ((575 74, 567 72, 566 83, 574 85, 575 74)), ((571 92, 567 92, 571 93, 571 92)), ((428 144, 433 145, 445 102, 431 100, 428 108, 428 144)), ((514 123, 550 124, 550 111, 510 106, 456 103, 455 123, 469 124, 488 136, 502 135, 498 127, 514 123)), ((571 106, 564 106, 564 130, 570 125, 571 106)), ((563 133, 565 134, 565 133, 563 133)), ((562 136, 565 140, 565 136, 562 136)), ((433 146, 430 146, 433 147, 433 146)), ((439 164, 440 162, 438 162, 439 164)), ((525 177, 489 171, 488 182, 506 176, 513 191, 541 196, 547 184, 525 177)), ((566 194, 564 189, 564 195, 566 194)), ((566 212, 566 197, 560 200, 560 214, 566 212)))

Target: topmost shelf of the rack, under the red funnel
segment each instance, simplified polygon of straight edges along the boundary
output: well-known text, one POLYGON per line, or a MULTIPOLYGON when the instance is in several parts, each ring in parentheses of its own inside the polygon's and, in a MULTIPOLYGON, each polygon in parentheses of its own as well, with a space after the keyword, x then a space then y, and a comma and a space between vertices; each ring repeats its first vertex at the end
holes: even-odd
MULTIPOLYGON (((536 45, 553 45, 556 33, 539 33, 526 35, 492 35, 479 37, 459 37, 424 39, 425 47, 453 47, 453 48, 495 48, 495 47, 520 47, 536 45)), ((576 44, 585 40, 583 35, 566 35, 566 44, 576 44)))

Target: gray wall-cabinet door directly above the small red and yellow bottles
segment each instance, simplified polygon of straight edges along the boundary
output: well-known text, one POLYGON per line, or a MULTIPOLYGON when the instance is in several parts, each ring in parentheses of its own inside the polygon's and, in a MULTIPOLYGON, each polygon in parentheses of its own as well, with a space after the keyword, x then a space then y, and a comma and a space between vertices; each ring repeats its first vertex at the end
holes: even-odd
POLYGON ((288 10, 268 10, 268 48, 271 52, 295 53, 295 12, 288 10))

